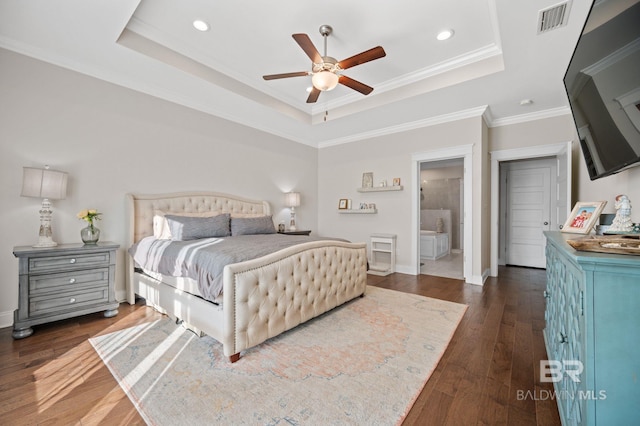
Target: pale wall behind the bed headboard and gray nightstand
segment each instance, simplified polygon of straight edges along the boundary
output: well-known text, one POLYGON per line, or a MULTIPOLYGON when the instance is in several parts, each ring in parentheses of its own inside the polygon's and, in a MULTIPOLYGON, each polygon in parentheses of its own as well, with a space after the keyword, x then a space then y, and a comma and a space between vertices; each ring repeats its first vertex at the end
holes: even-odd
MULTIPOLYGON (((54 240, 79 243, 85 208, 103 212, 101 239, 124 244, 127 192, 211 190, 271 203, 301 193, 300 229, 317 229, 317 150, 0 49, 0 327, 18 297, 14 246, 38 240, 41 201, 20 197, 22 167, 69 173, 53 202, 54 240)), ((124 290, 124 246, 117 294, 124 290)))

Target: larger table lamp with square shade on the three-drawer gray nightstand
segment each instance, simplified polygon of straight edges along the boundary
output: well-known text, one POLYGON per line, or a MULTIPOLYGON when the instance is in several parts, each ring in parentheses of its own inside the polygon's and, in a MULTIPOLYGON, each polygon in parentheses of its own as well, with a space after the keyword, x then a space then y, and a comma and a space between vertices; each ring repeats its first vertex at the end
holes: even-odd
POLYGON ((53 241, 51 231, 51 210, 50 200, 63 200, 67 196, 67 173, 58 170, 51 170, 49 166, 44 169, 34 167, 23 167, 22 175, 22 197, 42 198, 40 208, 40 231, 38 233, 38 243, 33 247, 55 247, 58 245, 53 241))

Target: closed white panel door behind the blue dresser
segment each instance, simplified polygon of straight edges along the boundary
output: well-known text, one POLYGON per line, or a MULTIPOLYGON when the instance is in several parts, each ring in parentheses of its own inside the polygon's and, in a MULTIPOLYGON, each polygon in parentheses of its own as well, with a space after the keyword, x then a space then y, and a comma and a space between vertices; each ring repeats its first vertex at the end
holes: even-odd
MULTIPOLYGON (((543 231, 552 229, 552 185, 556 165, 551 159, 506 165, 506 263, 546 267, 543 231)), ((555 198, 554 198, 555 200, 555 198)))

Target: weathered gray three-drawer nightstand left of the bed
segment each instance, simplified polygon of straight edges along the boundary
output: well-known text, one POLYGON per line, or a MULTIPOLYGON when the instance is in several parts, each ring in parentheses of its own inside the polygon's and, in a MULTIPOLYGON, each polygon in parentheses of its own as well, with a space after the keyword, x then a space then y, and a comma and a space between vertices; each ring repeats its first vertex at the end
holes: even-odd
POLYGON ((99 311, 105 311, 105 317, 117 315, 118 247, 111 242, 14 247, 20 261, 13 338, 31 336, 33 325, 99 311))

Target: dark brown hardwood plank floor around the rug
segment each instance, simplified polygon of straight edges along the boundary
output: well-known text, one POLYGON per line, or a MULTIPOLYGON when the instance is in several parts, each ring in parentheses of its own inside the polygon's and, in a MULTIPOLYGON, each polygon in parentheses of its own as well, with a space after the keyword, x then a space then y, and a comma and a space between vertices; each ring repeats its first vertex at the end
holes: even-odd
MULTIPOLYGON (((539 360, 547 359, 545 271, 505 267, 499 275, 482 287, 427 275, 369 276, 369 285, 469 306, 404 425, 560 425, 546 397, 553 388, 538 379, 539 360)), ((144 424, 88 338, 159 316, 125 303, 117 317, 41 325, 23 340, 0 329, 1 423, 144 424)))

